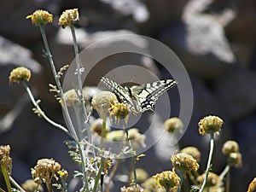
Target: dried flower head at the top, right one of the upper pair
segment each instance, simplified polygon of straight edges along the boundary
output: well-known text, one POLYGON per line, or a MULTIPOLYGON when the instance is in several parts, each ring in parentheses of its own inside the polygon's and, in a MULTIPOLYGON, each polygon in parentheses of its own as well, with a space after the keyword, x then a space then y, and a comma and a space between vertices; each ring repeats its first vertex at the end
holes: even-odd
POLYGON ((79 9, 67 9, 61 14, 59 25, 63 28, 73 26, 77 20, 79 20, 79 9))

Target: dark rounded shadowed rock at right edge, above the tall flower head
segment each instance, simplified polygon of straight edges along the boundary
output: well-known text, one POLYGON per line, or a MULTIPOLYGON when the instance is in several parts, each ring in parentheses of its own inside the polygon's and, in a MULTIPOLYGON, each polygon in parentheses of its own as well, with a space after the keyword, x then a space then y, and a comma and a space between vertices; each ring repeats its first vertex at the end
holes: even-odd
POLYGON ((229 119, 240 119, 253 113, 256 107, 255 73, 236 67, 218 79, 216 94, 229 119))

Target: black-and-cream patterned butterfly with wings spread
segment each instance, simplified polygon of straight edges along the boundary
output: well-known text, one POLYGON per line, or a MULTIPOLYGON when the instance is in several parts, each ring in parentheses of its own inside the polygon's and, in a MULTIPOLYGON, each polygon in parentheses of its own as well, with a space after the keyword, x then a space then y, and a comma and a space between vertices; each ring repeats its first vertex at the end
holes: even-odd
POLYGON ((177 84, 173 79, 165 79, 128 87, 105 77, 102 77, 101 82, 113 91, 119 102, 128 104, 132 113, 154 111, 158 97, 177 84))

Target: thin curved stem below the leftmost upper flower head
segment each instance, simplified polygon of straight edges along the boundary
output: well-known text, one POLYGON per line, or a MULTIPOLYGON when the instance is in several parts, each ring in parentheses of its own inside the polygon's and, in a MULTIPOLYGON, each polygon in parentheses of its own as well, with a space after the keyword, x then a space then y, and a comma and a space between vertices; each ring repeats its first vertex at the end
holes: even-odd
POLYGON ((27 95, 29 96, 30 100, 32 101, 32 104, 34 105, 35 108, 37 108, 38 114, 39 114, 42 118, 44 118, 47 122, 49 122, 49 124, 54 125, 55 127, 61 129, 62 131, 66 132, 67 134, 69 134, 69 132, 67 131, 67 129, 66 129, 64 126, 55 123, 53 120, 49 119, 49 118, 45 115, 44 111, 39 107, 38 102, 35 101, 35 98, 34 98, 34 96, 32 95, 32 92, 31 92, 30 88, 27 86, 27 84, 26 84, 25 81, 22 81, 22 85, 24 86, 27 95))

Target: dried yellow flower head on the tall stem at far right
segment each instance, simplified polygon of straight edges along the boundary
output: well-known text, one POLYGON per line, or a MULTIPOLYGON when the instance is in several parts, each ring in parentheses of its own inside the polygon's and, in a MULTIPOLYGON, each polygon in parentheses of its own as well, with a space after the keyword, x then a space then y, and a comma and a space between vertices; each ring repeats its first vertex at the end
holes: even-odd
POLYGON ((209 115, 199 121, 199 133, 201 135, 210 134, 212 132, 216 132, 218 134, 223 122, 223 119, 220 119, 217 116, 209 115))

